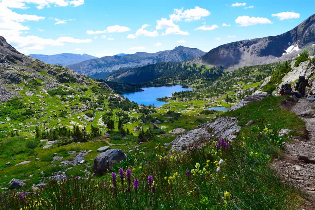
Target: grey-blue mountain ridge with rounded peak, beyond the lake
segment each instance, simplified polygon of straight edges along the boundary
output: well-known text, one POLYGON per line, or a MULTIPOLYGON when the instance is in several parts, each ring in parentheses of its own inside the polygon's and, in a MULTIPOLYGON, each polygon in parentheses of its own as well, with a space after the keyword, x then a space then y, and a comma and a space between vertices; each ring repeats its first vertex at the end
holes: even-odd
POLYGON ((158 62, 182 62, 198 58, 204 54, 205 52, 197 48, 178 46, 173 50, 165 50, 157 53, 138 52, 124 56, 105 56, 67 65, 66 67, 89 77, 104 79, 118 69, 139 67, 158 62))

